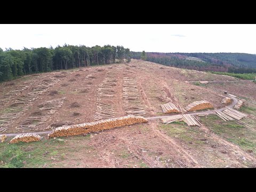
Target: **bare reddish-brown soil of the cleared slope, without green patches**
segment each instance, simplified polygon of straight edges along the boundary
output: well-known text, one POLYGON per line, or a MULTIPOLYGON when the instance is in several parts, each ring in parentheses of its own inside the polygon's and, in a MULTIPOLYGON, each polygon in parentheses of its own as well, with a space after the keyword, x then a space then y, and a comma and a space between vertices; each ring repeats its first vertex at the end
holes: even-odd
MULTIPOLYGON (((129 64, 31 75, 0 84, 0 89, 3 90, 1 96, 22 87, 24 82, 33 83, 11 97, 4 105, 0 105, 1 116, 11 106, 15 106, 14 101, 17 98, 31 91, 34 85, 50 77, 61 78, 61 81, 39 95, 38 99, 31 101, 29 110, 10 124, 5 133, 27 132, 28 130, 17 130, 19 125, 33 123, 24 119, 44 114, 45 111, 42 112, 39 108, 44 106, 46 101, 63 97, 66 98, 63 105, 53 111, 47 111, 51 112, 50 117, 31 131, 43 131, 54 122, 72 121, 75 124, 92 122, 97 109, 97 88, 108 72, 115 74, 116 78, 116 85, 113 84, 114 97, 103 98, 100 102, 113 106, 115 117, 126 115, 122 94, 124 70, 135 72, 140 100, 146 111, 145 117, 163 115, 161 104, 170 101, 183 108, 193 101, 207 100, 218 109, 225 106, 221 103, 223 91, 248 97, 254 102, 256 99, 256 84, 253 82, 197 86, 185 81, 237 79, 132 60, 129 64)), ((234 143, 219 137, 211 132, 209 127, 188 127, 179 124, 163 126, 159 119, 150 120, 145 124, 91 133, 87 139, 82 136, 62 139, 66 141, 65 147, 72 150, 67 151, 68 158, 53 161, 53 167, 253 167, 256 165, 254 153, 246 152, 234 143), (241 160, 243 157, 246 161, 241 160)))

